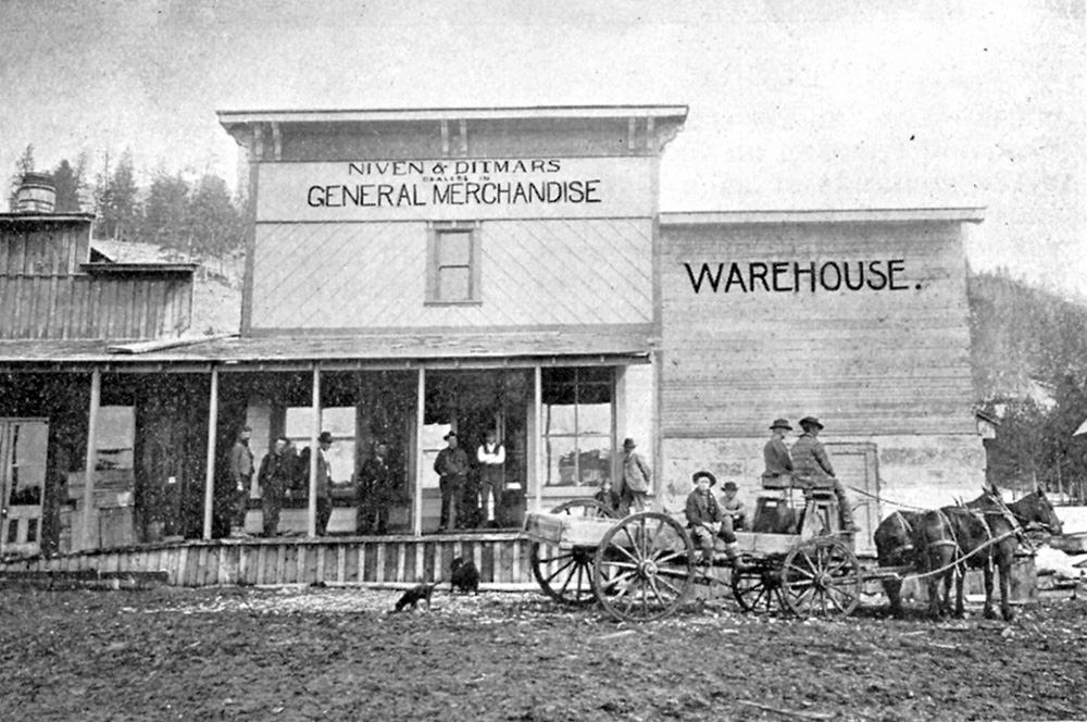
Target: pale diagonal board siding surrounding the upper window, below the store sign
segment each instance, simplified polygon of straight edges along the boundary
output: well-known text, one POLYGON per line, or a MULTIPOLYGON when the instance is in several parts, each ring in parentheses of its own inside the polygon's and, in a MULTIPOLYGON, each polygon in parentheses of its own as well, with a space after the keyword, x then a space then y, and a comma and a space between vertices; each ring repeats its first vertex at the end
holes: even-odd
POLYGON ((425 306, 423 223, 258 224, 254 329, 650 323, 647 219, 480 226, 483 303, 425 306))

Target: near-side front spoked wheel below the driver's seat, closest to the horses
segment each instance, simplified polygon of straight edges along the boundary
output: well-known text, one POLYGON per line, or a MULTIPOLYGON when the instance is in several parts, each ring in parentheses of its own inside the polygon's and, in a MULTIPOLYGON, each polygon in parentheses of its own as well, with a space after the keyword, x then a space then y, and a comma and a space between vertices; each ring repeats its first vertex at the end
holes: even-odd
POLYGON ((808 539, 785 557, 782 598, 798 617, 848 617, 861 601, 861 565, 840 539, 808 539))

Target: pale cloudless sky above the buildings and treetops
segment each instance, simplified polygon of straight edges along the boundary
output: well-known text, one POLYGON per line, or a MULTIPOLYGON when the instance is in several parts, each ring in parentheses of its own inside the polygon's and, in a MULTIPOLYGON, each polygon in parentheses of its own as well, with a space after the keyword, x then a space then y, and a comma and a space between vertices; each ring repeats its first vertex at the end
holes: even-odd
POLYGON ((220 110, 684 104, 662 211, 983 206, 974 269, 1087 303, 1084 5, 0 0, 0 173, 233 185, 220 110))

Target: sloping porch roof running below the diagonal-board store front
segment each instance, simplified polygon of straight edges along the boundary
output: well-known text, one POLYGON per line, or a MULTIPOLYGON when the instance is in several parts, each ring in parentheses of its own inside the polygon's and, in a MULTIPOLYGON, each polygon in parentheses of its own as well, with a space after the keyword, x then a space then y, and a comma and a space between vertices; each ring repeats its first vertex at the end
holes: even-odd
POLYGON ((200 371, 414 365, 550 364, 645 359, 645 327, 589 331, 372 334, 358 336, 192 337, 161 341, 3 340, 0 371, 200 371))

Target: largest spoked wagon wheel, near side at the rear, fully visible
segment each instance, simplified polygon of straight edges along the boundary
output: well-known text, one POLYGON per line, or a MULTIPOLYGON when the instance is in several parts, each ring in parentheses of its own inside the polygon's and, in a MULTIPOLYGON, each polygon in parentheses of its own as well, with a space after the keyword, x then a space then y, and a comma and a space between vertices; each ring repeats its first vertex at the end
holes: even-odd
POLYGON ((679 522, 647 511, 608 530, 597 549, 597 600, 616 619, 647 622, 675 612, 695 583, 695 545, 679 522))

